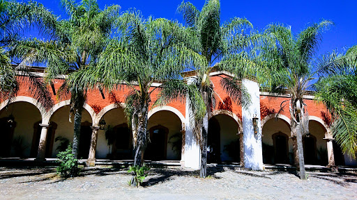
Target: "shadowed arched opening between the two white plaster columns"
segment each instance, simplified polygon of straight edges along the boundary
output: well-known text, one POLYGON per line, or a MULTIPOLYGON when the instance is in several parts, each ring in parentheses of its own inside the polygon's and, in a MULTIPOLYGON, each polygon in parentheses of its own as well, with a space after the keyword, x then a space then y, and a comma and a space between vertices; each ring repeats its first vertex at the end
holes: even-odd
POLYGON ((208 163, 239 163, 238 123, 233 117, 218 114, 208 120, 208 163))

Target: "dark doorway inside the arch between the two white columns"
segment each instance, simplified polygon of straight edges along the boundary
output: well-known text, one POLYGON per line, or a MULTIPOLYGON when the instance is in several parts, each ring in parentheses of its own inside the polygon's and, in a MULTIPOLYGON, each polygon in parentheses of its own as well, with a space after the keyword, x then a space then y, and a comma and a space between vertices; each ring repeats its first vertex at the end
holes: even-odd
POLYGON ((220 124, 215 117, 208 121, 207 163, 221 163, 220 124))

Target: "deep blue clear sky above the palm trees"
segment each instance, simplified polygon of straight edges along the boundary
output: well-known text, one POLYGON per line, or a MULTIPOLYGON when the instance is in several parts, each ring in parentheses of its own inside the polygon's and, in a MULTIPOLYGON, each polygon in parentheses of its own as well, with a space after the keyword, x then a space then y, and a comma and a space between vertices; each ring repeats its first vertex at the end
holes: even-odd
MULTIPOLYGON (((66 18, 60 1, 38 1, 56 15, 66 18)), ((121 11, 129 8, 141 10, 145 17, 165 17, 177 19, 182 22, 182 17, 176 13, 181 0, 99 0, 101 9, 112 4, 119 4, 121 11)), ((204 5, 204 0, 190 1, 199 10, 204 5)), ((324 33, 319 48, 319 54, 331 52, 335 49, 344 49, 357 44, 357 1, 227 1, 221 0, 222 22, 231 17, 245 17, 258 30, 271 23, 283 23, 291 26, 293 33, 298 33, 309 23, 329 19, 335 23, 329 31, 324 33)))

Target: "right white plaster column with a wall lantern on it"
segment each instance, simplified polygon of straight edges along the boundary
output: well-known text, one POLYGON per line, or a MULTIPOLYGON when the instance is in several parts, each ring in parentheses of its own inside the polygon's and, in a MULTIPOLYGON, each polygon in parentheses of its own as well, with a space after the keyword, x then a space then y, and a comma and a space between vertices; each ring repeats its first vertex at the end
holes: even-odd
POLYGON ((243 87, 245 87, 245 90, 250 95, 249 106, 242 108, 244 167, 253 170, 263 170, 259 85, 255 81, 243 79, 243 87), (255 116, 258 118, 257 134, 254 133, 252 122, 252 118, 255 116))

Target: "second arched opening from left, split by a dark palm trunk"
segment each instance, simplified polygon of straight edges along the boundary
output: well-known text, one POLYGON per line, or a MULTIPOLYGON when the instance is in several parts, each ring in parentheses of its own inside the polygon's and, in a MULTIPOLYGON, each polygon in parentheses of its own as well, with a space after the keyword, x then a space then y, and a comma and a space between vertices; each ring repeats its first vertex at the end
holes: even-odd
MULTIPOLYGON (((57 109, 50 118, 50 125, 56 124, 57 128, 54 133, 54 142, 52 145, 52 155, 49 157, 56 158, 59 151, 64 151, 66 149, 67 142, 73 143, 74 134, 74 115, 71 115, 71 122, 68 119, 70 114, 70 106, 63 106, 57 109), (62 140, 59 140, 61 138, 62 140)), ((92 118, 86 109, 82 110, 82 122, 81 131, 79 135, 79 151, 78 158, 88 158, 89 147, 91 144, 91 133, 92 133, 92 118)), ((51 127, 51 126, 50 126, 51 127)), ((53 132, 53 131, 52 131, 53 132)), ((48 131, 50 133, 50 130, 48 131)), ((48 136, 48 135, 47 135, 48 136)), ((47 138, 47 142, 49 138, 47 138)), ((48 143, 47 143, 48 144, 48 143)), ((46 145, 47 148, 47 145, 46 145)), ((46 156, 47 157, 47 156, 46 156)))

